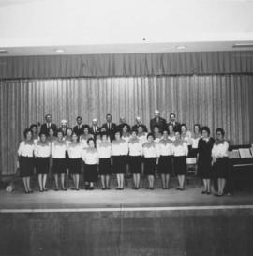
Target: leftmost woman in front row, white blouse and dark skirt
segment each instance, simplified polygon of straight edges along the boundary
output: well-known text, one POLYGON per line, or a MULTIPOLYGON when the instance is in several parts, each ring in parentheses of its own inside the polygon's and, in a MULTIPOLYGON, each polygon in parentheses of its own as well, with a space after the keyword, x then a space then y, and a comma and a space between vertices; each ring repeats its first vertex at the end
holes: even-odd
POLYGON ((32 139, 32 130, 29 128, 24 129, 23 137, 24 140, 20 143, 18 149, 18 156, 20 160, 20 169, 22 182, 24 186, 24 192, 32 193, 33 190, 30 188, 30 179, 34 171, 34 150, 35 144, 32 139))

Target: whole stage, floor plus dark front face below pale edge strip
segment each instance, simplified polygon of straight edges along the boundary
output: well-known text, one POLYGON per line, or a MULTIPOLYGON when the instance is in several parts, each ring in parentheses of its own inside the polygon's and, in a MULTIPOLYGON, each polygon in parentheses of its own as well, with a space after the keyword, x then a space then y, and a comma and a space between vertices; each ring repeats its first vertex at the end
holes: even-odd
POLYGON ((0 192, 0 255, 252 255, 253 194, 0 192))

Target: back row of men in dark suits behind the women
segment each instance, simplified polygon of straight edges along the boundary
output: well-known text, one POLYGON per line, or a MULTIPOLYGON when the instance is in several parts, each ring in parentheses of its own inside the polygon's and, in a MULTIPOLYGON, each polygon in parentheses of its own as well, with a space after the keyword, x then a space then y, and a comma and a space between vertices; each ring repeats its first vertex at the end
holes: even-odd
MULTIPOLYGON (((49 129, 52 128, 54 131, 57 130, 57 126, 55 124, 52 123, 52 115, 51 114, 47 114, 45 116, 45 120, 46 123, 44 123, 41 128, 40 128, 40 132, 49 133, 49 129)), ((82 135, 84 128, 89 128, 90 129, 90 133, 97 135, 97 133, 100 132, 107 132, 109 135, 112 135, 113 132, 115 130, 122 130, 122 128, 124 126, 127 125, 127 129, 128 131, 130 131, 130 129, 132 130, 137 130, 140 126, 143 128, 144 132, 147 132, 147 127, 145 125, 142 124, 142 120, 140 116, 136 117, 136 123, 134 126, 132 126, 132 128, 130 128, 130 126, 127 124, 126 118, 125 117, 120 117, 120 124, 116 125, 115 123, 112 122, 112 114, 108 113, 106 115, 106 123, 104 123, 101 127, 98 127, 98 121, 97 118, 94 118, 92 120, 92 126, 89 127, 89 125, 83 125, 82 124, 82 117, 78 116, 76 118, 77 121, 77 125, 73 128, 73 132, 75 132, 77 135, 82 135)), ((152 118, 150 120, 150 131, 153 132, 154 131, 154 127, 158 127, 160 131, 167 129, 169 125, 173 125, 174 129, 180 129, 180 123, 176 122, 176 114, 175 113, 171 113, 170 114, 170 120, 169 123, 166 122, 165 118, 160 117, 160 113, 158 110, 156 110, 154 112, 154 118, 152 118)), ((61 126, 60 130, 63 131, 64 135, 67 134, 67 120, 62 120, 61 121, 61 126)))

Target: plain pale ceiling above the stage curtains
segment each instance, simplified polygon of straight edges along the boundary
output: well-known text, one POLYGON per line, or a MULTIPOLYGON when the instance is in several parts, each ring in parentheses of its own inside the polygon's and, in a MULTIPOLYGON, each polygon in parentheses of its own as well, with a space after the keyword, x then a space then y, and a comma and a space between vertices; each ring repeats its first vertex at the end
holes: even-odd
POLYGON ((252 13, 253 0, 0 0, 0 56, 253 50, 252 13))

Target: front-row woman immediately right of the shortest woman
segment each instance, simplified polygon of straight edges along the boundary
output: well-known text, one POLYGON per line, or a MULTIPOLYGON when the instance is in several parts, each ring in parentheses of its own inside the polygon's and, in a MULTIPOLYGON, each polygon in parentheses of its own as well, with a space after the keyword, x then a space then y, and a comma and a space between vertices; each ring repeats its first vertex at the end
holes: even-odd
POLYGON ((105 190, 110 189, 110 176, 112 174, 112 145, 108 141, 107 133, 102 133, 101 139, 101 142, 97 143, 97 153, 99 158, 99 174, 101 176, 102 190, 105 190))

